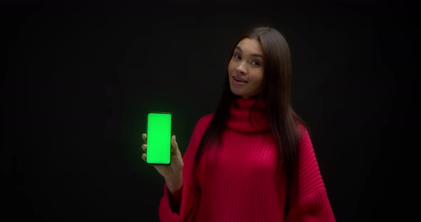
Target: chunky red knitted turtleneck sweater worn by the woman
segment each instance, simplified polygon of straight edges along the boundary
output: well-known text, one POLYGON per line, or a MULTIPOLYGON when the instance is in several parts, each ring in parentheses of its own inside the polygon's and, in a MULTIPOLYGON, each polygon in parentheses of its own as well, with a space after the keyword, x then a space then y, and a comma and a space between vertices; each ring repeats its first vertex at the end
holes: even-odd
POLYGON ((276 171, 279 150, 270 134, 265 104, 253 112, 252 119, 257 120, 253 126, 248 122, 253 102, 238 98, 231 105, 221 145, 204 153, 198 169, 193 169, 198 144, 213 114, 198 120, 183 155, 181 191, 172 196, 164 185, 158 210, 161 221, 335 221, 313 144, 301 125, 298 181, 291 184, 290 199, 285 199, 286 182, 282 171, 276 171), (290 209, 285 212, 287 201, 290 209))

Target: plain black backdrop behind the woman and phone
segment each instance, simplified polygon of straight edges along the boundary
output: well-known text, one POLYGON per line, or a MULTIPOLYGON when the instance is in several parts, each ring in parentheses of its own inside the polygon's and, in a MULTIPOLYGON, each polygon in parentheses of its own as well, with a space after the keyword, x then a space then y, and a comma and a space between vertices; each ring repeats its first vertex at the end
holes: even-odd
POLYGON ((290 43, 293 106, 338 221, 419 217, 414 17, 384 1, 4 2, 1 214, 158 221, 146 113, 173 113, 184 152, 240 33, 269 25, 290 43))

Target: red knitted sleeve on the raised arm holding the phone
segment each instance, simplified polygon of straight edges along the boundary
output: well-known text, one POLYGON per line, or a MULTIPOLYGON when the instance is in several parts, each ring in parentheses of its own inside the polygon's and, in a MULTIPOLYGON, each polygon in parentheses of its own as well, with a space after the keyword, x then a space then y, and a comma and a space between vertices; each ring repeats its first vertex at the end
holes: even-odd
POLYGON ((185 154, 183 155, 183 186, 181 187, 181 194, 171 196, 166 184, 163 187, 163 197, 158 208, 158 216, 163 222, 176 221, 192 221, 198 200, 200 198, 198 190, 193 183, 193 169, 196 150, 201 138, 209 125, 213 115, 206 115, 201 117, 193 129, 193 134, 185 154), (172 199, 171 199, 172 198, 172 199))

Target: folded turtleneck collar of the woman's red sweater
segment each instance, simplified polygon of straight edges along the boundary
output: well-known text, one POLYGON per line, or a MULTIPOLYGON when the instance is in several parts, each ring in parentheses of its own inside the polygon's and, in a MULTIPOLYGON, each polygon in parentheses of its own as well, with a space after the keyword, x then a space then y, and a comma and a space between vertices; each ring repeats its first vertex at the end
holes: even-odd
POLYGON ((230 104, 230 117, 227 127, 238 132, 267 132, 270 125, 267 117, 267 105, 263 100, 236 97, 230 104), (253 107, 253 104, 256 105, 253 107), (253 111, 251 108, 253 107, 253 111), (250 118, 249 118, 250 116, 250 118))

